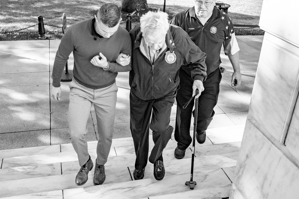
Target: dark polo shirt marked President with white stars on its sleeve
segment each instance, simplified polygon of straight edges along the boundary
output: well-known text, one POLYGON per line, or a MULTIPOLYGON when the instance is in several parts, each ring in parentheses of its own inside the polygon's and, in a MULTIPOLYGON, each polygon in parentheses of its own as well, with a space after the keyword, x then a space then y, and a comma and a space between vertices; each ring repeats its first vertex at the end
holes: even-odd
POLYGON ((240 50, 231 18, 216 7, 204 25, 196 17, 194 7, 176 14, 170 24, 184 29, 202 52, 207 54, 207 75, 215 71, 221 63, 222 44, 225 55, 234 55, 240 50))

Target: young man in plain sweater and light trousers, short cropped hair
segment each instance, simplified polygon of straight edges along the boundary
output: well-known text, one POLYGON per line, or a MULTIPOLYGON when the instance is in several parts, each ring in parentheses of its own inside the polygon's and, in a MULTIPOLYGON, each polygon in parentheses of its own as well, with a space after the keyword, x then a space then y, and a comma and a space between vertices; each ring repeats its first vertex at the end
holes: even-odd
POLYGON ((78 22, 68 28, 61 39, 53 67, 51 96, 60 100, 60 80, 68 56, 74 55, 74 78, 70 83, 68 109, 69 133, 81 166, 75 183, 86 183, 93 163, 87 150, 86 123, 91 105, 97 116, 98 143, 94 169, 94 184, 105 181, 115 120, 115 78, 118 72, 131 70, 131 64, 121 66, 115 60, 120 53, 131 55, 131 38, 121 26, 121 12, 115 4, 104 4, 93 19, 78 22))

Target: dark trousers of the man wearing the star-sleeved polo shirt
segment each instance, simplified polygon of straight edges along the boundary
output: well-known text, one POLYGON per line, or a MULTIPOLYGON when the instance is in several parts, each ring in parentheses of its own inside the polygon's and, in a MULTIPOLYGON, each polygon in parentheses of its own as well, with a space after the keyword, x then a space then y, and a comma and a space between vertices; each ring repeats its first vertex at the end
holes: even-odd
MULTIPOLYGON (((184 104, 192 97, 193 80, 187 72, 180 69, 180 89, 177 91, 176 101, 176 129, 174 137, 180 149, 186 149, 192 142, 190 136, 191 114, 194 105, 194 98, 190 104, 183 109, 184 104)), ((205 90, 198 98, 198 114, 196 132, 201 133, 208 129, 210 122, 215 114, 214 107, 218 101, 219 84, 222 75, 219 70, 215 70, 208 75, 203 82, 205 90)))

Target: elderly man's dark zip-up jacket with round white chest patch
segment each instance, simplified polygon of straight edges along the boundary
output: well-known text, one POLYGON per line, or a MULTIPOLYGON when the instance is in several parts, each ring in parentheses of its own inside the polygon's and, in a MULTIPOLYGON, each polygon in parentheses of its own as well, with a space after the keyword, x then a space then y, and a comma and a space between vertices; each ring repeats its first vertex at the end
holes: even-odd
POLYGON ((204 81, 207 77, 206 54, 191 41, 188 34, 175 25, 170 25, 166 35, 167 48, 154 64, 140 50, 142 33, 140 25, 130 31, 132 39, 132 70, 129 85, 133 96, 141 100, 159 99, 175 89, 180 82, 179 69, 191 72, 193 80, 204 81), (174 53, 176 61, 167 60, 167 53, 174 53), (168 61, 168 62, 167 62, 168 61))

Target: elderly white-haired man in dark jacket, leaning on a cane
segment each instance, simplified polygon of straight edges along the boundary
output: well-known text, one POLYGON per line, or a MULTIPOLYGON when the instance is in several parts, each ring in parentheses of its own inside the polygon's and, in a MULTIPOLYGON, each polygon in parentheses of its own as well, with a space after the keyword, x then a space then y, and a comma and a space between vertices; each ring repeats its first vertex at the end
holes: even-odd
POLYGON ((198 89, 196 98, 199 97, 204 90, 202 81, 207 76, 206 54, 183 29, 170 25, 167 13, 159 10, 144 14, 140 24, 130 31, 130 36, 130 129, 136 153, 134 179, 144 177, 150 128, 155 145, 149 162, 154 164, 155 179, 162 180, 165 175, 162 152, 173 132, 170 113, 180 82, 179 69, 186 67, 191 71, 193 95, 198 89))

